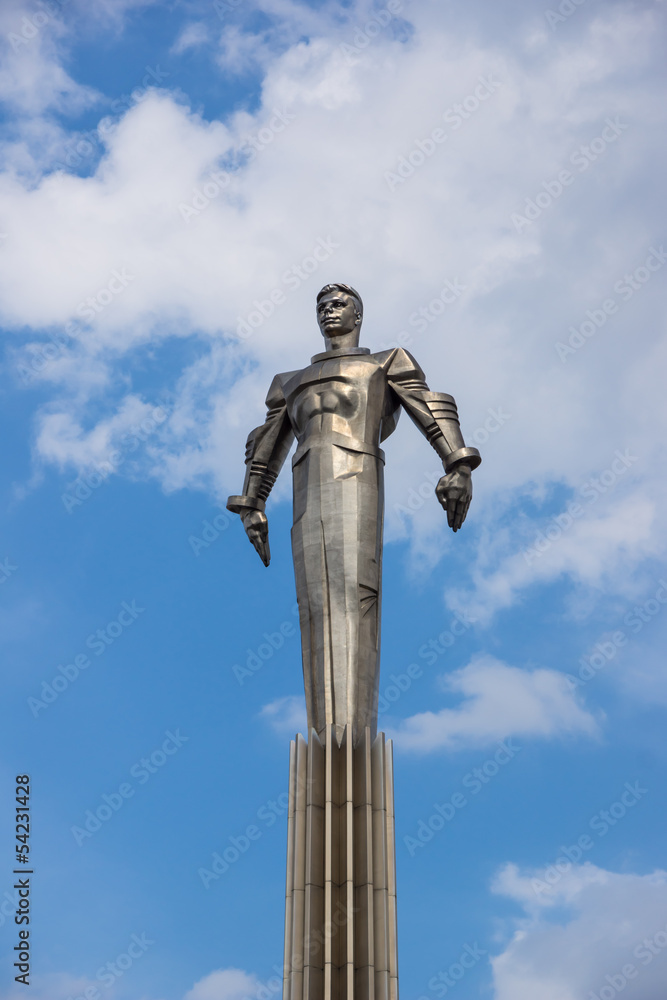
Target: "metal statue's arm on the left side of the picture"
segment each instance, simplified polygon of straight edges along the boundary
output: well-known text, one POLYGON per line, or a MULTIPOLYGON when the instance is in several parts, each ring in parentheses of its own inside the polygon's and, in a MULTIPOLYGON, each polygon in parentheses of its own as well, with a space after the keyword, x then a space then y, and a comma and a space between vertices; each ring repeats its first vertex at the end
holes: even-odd
POLYGON ((266 397, 266 420, 246 441, 243 493, 230 496, 227 510, 239 514, 243 526, 265 566, 271 558, 266 500, 278 478, 294 440, 280 377, 276 375, 266 397))

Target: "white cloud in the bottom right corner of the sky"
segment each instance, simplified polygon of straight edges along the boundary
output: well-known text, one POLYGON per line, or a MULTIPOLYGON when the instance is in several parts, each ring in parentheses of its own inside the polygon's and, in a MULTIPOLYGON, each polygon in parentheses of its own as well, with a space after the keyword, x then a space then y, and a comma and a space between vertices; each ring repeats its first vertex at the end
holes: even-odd
POLYGON ((525 914, 492 959, 494 1000, 613 1000, 617 994, 662 1000, 667 872, 618 874, 575 865, 542 905, 531 885, 537 874, 507 865, 494 882, 493 891, 525 914))

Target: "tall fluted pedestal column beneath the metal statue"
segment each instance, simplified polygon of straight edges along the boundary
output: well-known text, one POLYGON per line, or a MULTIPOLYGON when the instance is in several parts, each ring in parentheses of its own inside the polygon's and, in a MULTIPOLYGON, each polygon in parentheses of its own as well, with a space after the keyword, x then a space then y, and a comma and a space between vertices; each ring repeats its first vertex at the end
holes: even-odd
POLYGON ((290 746, 283 1000, 397 1000, 392 743, 290 746))

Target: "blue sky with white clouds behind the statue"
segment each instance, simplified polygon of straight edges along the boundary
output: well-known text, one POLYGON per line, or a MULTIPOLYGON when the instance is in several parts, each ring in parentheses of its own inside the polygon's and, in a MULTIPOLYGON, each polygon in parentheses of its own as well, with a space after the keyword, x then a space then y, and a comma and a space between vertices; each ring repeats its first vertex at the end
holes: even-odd
POLYGON ((386 445, 402 996, 662 1000, 664 36, 642 0, 3 3, 2 1000, 23 773, 33 1000, 280 992, 289 467, 269 570, 224 502, 331 280, 484 459, 454 536, 386 445))

